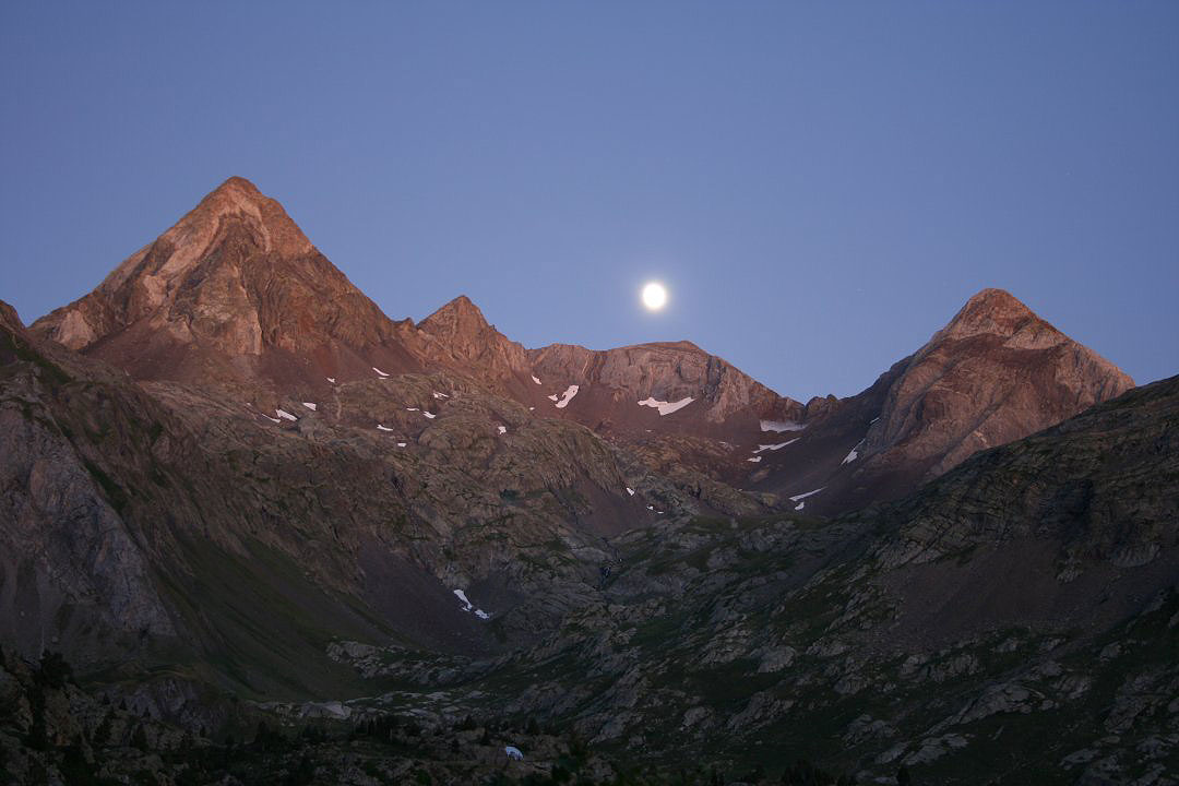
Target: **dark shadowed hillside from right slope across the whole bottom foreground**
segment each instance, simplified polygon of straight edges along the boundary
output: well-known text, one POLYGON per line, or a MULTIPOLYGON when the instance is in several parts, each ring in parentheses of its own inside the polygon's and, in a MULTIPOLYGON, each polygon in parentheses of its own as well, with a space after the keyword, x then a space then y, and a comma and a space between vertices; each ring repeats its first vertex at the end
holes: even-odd
POLYGON ((896 503, 634 530, 608 542, 608 570, 575 603, 554 574, 572 608, 531 641, 461 653, 327 634, 334 698, 169 695, 198 683, 74 678, 55 656, 6 652, 4 771, 81 784, 1173 784, 1177 427, 1172 378, 896 503), (507 745, 525 760, 508 762, 507 745))

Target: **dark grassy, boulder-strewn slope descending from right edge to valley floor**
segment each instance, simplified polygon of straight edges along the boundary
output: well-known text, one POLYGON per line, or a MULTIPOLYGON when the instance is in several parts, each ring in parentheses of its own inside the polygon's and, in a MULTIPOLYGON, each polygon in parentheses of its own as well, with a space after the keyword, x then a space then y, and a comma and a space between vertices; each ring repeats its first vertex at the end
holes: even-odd
POLYGON ((507 707, 670 768, 1175 782, 1177 437, 1179 377, 895 504, 631 533, 599 597, 511 658, 337 656, 404 680, 390 707, 507 707))

